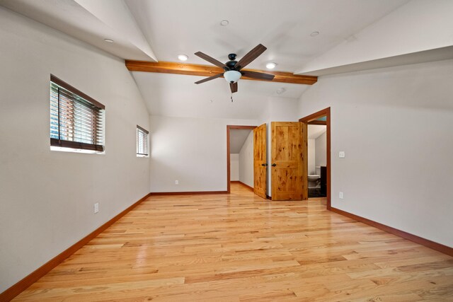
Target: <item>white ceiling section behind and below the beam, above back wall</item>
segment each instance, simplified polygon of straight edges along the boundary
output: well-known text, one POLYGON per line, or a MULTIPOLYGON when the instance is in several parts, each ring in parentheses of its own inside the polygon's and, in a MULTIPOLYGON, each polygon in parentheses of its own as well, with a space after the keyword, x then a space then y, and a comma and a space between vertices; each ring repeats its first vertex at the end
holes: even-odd
POLYGON ((142 92, 151 115, 173 117, 217 117, 256 120, 266 109, 269 96, 298 98, 306 85, 239 81, 239 90, 231 102, 229 85, 216 79, 200 85, 200 76, 155 74, 133 71, 135 82, 142 92), (277 89, 285 93, 277 94, 277 89))

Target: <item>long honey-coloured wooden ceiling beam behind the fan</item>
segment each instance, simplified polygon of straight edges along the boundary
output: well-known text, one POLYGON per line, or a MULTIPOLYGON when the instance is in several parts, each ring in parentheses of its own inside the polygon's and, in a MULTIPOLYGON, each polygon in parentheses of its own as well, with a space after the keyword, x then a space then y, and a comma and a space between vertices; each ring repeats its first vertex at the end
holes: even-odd
MULTIPOLYGON (((126 60, 126 67, 130 71, 157 72, 161 74, 187 74, 189 76, 214 76, 216 74, 224 73, 224 70, 217 66, 183 64, 174 62, 156 63, 147 61, 126 60)), ((265 74, 273 74, 275 77, 271 82, 313 85, 314 83, 316 83, 316 81, 318 81, 317 76, 303 76, 292 74, 291 72, 268 71, 257 69, 243 69, 243 71, 257 71, 263 72, 265 74)), ((263 81, 258 79, 251 79, 246 76, 243 76, 241 79, 252 81, 263 81)))

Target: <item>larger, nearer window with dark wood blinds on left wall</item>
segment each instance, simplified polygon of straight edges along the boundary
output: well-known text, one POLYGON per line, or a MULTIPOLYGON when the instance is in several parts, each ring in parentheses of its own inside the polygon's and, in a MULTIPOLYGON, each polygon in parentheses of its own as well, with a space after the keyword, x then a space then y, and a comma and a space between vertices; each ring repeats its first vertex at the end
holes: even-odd
POLYGON ((50 76, 50 146, 104 151, 105 106, 50 76))

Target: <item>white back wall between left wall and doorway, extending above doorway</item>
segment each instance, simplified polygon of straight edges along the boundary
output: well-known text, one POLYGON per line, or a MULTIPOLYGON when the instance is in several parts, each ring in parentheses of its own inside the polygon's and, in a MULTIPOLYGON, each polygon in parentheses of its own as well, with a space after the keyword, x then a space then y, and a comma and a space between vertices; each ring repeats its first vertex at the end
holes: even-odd
POLYGON ((151 116, 151 192, 226 191, 228 124, 256 121, 151 116))

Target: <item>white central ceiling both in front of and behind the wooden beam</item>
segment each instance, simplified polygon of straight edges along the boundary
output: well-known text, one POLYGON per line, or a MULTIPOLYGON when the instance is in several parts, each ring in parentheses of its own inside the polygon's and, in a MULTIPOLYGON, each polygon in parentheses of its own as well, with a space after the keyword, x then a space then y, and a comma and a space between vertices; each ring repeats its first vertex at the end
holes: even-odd
MULTIPOLYGON (((210 64, 196 57, 205 52, 226 62, 231 52, 238 58, 262 43, 266 50, 248 67, 265 69, 277 62, 279 71, 295 71, 406 0, 126 0, 156 57, 175 62, 187 54, 188 63, 210 64), (332 18, 332 17, 335 18, 332 18), (228 20, 224 27, 220 21, 228 20), (311 37, 310 33, 321 34, 311 37)), ((230 101, 224 79, 194 85, 197 76, 132 73, 151 115, 258 119, 268 97, 299 98, 309 86, 239 81, 239 92, 230 101), (285 93, 277 94, 279 88, 285 93)))

